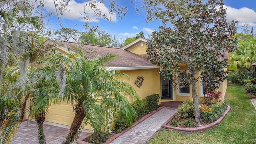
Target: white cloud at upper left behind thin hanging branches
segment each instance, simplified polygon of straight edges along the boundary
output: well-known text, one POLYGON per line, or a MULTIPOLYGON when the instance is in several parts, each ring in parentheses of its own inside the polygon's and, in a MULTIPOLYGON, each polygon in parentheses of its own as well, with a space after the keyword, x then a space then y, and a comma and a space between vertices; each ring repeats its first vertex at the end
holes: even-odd
MULTIPOLYGON (((45 2, 46 3, 44 4, 44 8, 47 11, 53 12, 54 14, 56 14, 54 1, 53 0, 47 0, 45 2)), ((59 2, 62 2, 62 1, 56 1, 56 2, 58 2, 58 5, 59 5, 57 7, 57 10, 58 10, 58 8, 61 5, 59 2)), ((113 22, 117 21, 116 14, 115 13, 114 14, 109 14, 108 8, 103 3, 96 2, 95 4, 96 4, 96 7, 100 9, 102 14, 105 14, 113 22)), ((83 3, 77 3, 77 2, 75 2, 75 0, 70 0, 70 2, 68 3, 68 6, 67 6, 67 10, 63 14, 63 18, 66 18, 66 19, 69 19, 69 20, 84 21, 84 19, 83 19, 84 12, 86 12, 85 15, 89 18, 88 20, 86 20, 86 22, 99 22, 99 20, 98 20, 99 17, 96 16, 94 10, 92 10, 92 8, 90 8, 88 2, 83 4, 83 3)))

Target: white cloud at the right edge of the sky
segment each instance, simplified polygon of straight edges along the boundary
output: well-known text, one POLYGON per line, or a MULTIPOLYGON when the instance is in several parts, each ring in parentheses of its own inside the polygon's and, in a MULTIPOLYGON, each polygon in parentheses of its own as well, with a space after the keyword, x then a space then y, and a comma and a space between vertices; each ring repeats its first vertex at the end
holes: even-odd
POLYGON ((226 8, 226 19, 228 22, 237 20, 239 26, 243 24, 256 25, 256 12, 254 12, 254 10, 250 8, 236 9, 225 5, 223 8, 226 8))

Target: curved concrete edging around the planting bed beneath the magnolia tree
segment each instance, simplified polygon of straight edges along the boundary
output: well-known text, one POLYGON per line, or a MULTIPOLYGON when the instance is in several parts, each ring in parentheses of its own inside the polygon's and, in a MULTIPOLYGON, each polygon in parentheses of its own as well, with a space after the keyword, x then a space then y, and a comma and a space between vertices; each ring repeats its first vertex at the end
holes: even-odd
POLYGON ((228 105, 226 111, 223 113, 223 115, 220 118, 218 118, 218 120, 216 120, 216 121, 214 121, 214 122, 212 122, 210 124, 207 124, 205 126, 199 126, 199 127, 196 127, 196 128, 180 128, 180 127, 176 127, 176 126, 169 126, 169 125, 167 125, 168 122, 170 120, 172 120, 172 118, 174 118, 176 116, 176 113, 175 113, 169 120, 167 120, 162 125, 162 128, 168 128, 168 129, 185 131, 185 132, 195 132, 195 131, 205 130, 205 129, 208 129, 208 128, 212 128, 213 126, 216 126, 218 123, 220 123, 223 120, 224 116, 226 116, 226 114, 228 114, 229 110, 230 110, 230 105, 228 105))

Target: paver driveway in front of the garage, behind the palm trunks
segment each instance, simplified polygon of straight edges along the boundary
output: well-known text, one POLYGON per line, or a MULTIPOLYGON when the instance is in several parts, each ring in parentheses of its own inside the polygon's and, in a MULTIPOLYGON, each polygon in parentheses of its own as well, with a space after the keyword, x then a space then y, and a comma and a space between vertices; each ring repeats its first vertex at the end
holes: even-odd
MULTIPOLYGON (((46 144, 61 144, 68 135, 68 128, 61 128, 48 124, 43 125, 46 144)), ((80 137, 82 135, 85 136, 86 134, 88 133, 82 132, 80 137)), ((14 134, 14 138, 12 138, 10 144, 38 144, 38 129, 36 122, 22 122, 18 131, 14 134)))

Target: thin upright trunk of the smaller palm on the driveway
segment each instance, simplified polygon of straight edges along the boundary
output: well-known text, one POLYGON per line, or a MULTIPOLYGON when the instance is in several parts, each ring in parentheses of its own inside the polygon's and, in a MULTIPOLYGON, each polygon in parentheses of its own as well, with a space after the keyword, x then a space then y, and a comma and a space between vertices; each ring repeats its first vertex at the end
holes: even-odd
POLYGON ((38 144, 46 144, 44 139, 44 128, 43 128, 43 122, 44 122, 44 116, 36 116, 35 117, 38 127, 38 144))

